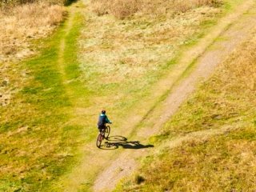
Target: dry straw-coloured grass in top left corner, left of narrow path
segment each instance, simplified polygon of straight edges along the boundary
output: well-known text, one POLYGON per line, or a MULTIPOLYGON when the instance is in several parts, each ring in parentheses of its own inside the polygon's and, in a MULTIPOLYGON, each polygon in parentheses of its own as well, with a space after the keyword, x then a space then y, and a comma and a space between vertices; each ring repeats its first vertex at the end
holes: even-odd
POLYGON ((26 81, 28 71, 19 71, 12 62, 35 54, 32 40, 49 35, 64 13, 62 6, 46 2, 0 9, 0 106, 8 105, 11 95, 26 81))

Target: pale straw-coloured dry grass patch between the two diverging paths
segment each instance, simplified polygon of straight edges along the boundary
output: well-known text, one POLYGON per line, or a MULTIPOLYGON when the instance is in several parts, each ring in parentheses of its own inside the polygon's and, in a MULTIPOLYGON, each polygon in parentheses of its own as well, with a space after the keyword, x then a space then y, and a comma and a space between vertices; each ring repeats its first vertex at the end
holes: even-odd
POLYGON ((82 70, 86 79, 97 75, 102 81, 95 82, 94 78, 86 84, 95 87, 102 82, 127 82, 161 70, 179 46, 195 40, 191 37, 200 31, 202 23, 212 21, 219 13, 220 9, 204 6, 175 17, 143 14, 118 20, 88 11, 81 38, 82 70))

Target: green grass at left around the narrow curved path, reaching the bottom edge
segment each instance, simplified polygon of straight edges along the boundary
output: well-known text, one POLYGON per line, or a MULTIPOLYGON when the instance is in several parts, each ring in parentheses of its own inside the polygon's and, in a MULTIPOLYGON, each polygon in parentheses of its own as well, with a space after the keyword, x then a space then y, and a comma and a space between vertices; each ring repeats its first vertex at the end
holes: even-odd
POLYGON ((6 119, 0 123, 0 160, 6 170, 0 171, 0 191, 45 190, 76 163, 83 127, 67 122, 72 117, 72 98, 85 93, 73 91, 74 96, 70 97, 68 86, 78 90, 79 83, 67 86, 58 66, 59 43, 64 37, 67 79, 78 78, 78 62, 72 51, 76 51, 82 16, 77 15, 74 23, 70 34, 64 37, 64 22, 51 38, 44 40, 38 57, 21 63, 22 68, 30 70, 29 80, 11 105, 1 108, 6 119), (22 127, 26 128, 8 138, 8 133, 22 127))

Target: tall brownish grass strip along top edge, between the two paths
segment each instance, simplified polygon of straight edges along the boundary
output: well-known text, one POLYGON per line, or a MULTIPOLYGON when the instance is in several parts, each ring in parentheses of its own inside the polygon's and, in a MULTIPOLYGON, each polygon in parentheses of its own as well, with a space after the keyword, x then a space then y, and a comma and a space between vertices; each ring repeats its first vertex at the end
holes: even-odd
POLYGON ((177 14, 198 6, 218 6, 218 0, 93 0, 93 10, 98 15, 112 14, 116 18, 127 18, 135 13, 141 14, 177 14))

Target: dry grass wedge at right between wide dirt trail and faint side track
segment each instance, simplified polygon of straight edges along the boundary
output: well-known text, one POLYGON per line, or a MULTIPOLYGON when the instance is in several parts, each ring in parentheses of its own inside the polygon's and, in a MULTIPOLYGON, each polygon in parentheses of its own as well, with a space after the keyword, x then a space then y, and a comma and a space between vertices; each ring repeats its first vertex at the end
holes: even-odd
POLYGON ((256 33, 218 67, 214 77, 168 122, 162 134, 184 134, 246 118, 256 105, 256 33), (194 106, 196 105, 196 107, 194 106))

